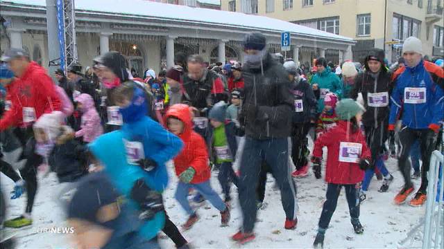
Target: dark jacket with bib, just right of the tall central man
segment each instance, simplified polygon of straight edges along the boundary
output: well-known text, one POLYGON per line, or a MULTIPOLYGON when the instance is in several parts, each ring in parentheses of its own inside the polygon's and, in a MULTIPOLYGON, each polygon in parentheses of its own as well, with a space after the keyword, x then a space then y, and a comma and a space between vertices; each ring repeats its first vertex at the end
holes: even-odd
POLYGON ((310 122, 315 119, 318 101, 310 84, 302 77, 295 78, 290 84, 290 92, 294 97, 293 123, 310 122), (302 100, 302 109, 296 108, 298 100, 302 100))

